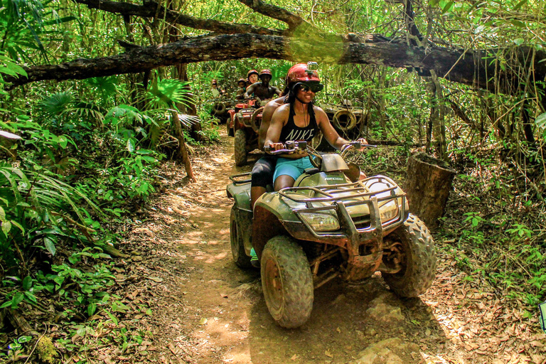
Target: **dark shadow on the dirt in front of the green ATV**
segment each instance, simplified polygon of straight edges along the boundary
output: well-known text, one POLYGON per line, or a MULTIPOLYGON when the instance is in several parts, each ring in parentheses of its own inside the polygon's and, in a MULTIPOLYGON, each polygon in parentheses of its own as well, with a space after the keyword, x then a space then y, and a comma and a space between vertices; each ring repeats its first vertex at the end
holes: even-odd
MULTIPOLYGON (((424 363, 446 341, 439 323, 422 299, 401 300, 374 275, 359 286, 334 280, 314 292, 311 318, 301 328, 285 329, 274 322, 260 296, 250 310, 252 363, 424 363), (373 307, 398 311, 378 317, 373 307), (401 314, 401 315, 400 315, 401 314), (408 346, 387 346, 378 361, 357 361, 368 346, 399 338, 408 346), (415 345, 417 344, 417 345, 415 345), (431 353, 432 350, 432 353, 431 353), (386 356, 385 356, 386 355, 386 356)), ((379 357, 380 355, 378 355, 379 357)))

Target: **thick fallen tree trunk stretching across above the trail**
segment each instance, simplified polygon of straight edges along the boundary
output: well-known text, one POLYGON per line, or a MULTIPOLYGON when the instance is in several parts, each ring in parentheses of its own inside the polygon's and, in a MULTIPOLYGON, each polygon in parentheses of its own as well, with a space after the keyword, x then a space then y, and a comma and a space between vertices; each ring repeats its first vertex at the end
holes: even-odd
POLYGON ((419 48, 405 41, 392 41, 381 36, 317 36, 289 38, 255 33, 198 36, 181 41, 137 47, 127 53, 102 58, 77 59, 60 65, 38 65, 24 68, 28 77, 6 77, 14 86, 41 80, 81 80, 90 77, 141 73, 146 70, 179 63, 206 60, 234 60, 242 58, 271 58, 294 61, 316 60, 323 63, 362 63, 387 65, 395 68, 415 68, 419 74, 430 70, 453 82, 473 85, 491 91, 514 95, 519 91, 518 75, 511 69, 534 70, 534 79, 546 77, 546 53, 528 47, 515 48, 513 67, 496 73, 491 58, 504 50, 451 50, 448 48, 419 48), (530 53, 535 52, 535 57, 530 53), (488 61, 489 60, 489 61, 488 61), (496 80, 493 75, 499 75, 496 80), (499 80, 501 82, 499 82, 499 80), (495 82, 501 87, 494 87, 495 82))

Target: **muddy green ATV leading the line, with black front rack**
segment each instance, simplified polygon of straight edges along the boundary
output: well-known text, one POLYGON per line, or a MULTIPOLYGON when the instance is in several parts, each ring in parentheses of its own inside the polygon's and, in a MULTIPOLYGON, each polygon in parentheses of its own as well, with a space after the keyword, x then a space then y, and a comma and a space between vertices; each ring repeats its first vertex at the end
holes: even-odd
MULTIPOLYGON (((360 144, 350 144, 360 148, 360 144)), ((294 187, 264 193, 250 209, 250 173, 231 176, 228 196, 232 256, 251 267, 254 247, 269 313, 295 328, 311 316, 314 289, 336 277, 358 283, 381 272, 402 297, 423 294, 436 273, 434 241, 408 212, 405 193, 390 178, 359 181, 360 168, 342 154, 319 154, 305 142, 274 153, 306 151, 309 168, 294 187), (254 219, 252 219, 254 217, 254 219)))

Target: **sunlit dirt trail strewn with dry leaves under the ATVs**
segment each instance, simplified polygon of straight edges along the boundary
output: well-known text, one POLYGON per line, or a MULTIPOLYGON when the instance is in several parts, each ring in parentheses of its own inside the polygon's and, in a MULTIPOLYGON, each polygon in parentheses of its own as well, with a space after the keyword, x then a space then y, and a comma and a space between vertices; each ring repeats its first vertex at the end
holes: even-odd
POLYGON ((397 299, 380 275, 357 287, 334 280, 315 291, 308 323, 296 330, 277 326, 267 311, 259 272, 232 262, 232 201, 225 186, 228 176, 249 171, 250 165, 235 168, 233 139, 223 138, 213 151, 194 156, 198 183, 186 183, 181 167, 161 171, 166 178, 161 194, 141 210, 129 233, 125 250, 134 256, 125 272, 139 279, 124 286, 124 295, 132 306, 147 304, 152 312, 126 318, 150 338, 140 357, 126 358, 130 362, 546 360, 537 342, 545 336, 525 331, 518 320, 504 324, 513 312, 494 294, 466 282, 466 274, 441 252, 437 279, 419 299, 397 299))

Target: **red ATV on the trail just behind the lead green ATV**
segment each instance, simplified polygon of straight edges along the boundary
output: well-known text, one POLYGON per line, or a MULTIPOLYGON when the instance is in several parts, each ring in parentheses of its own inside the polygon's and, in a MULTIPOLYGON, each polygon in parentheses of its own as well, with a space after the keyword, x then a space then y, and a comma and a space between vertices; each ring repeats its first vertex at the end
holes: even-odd
MULTIPOLYGON (((269 101, 269 100, 267 100, 269 101)), ((267 103, 258 97, 245 100, 228 110, 228 135, 235 136, 235 164, 242 166, 247 163, 250 151, 258 148, 259 125, 262 124, 262 111, 267 103)))

